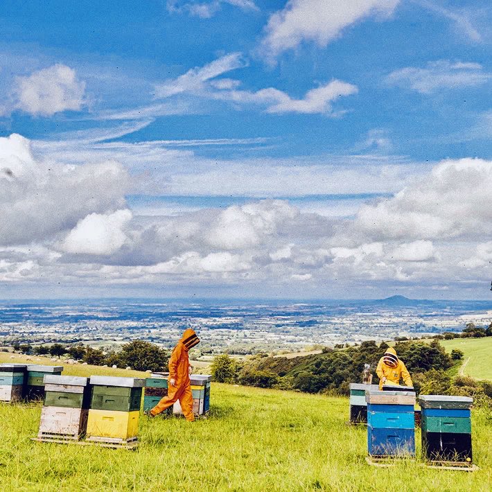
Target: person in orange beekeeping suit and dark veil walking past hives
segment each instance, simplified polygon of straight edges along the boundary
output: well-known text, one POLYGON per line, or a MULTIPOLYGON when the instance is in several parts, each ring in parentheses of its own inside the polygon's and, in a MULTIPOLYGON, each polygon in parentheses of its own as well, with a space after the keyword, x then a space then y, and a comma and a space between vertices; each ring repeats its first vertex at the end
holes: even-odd
POLYGON ((188 422, 193 422, 193 394, 191 393, 190 383, 190 362, 188 359, 188 350, 200 343, 200 338, 197 337, 195 331, 188 328, 184 331, 181 340, 177 342, 173 353, 169 359, 169 377, 168 377, 168 396, 155 405, 148 412, 148 416, 153 417, 166 408, 169 408, 179 400, 181 410, 188 422))

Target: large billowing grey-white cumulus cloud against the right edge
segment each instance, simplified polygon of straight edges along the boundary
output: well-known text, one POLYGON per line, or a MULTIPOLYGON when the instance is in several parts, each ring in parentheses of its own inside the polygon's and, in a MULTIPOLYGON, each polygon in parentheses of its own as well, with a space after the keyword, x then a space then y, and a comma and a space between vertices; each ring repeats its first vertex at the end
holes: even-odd
POLYGON ((492 162, 443 161, 395 197, 361 207, 355 227, 385 239, 443 239, 489 234, 492 162))

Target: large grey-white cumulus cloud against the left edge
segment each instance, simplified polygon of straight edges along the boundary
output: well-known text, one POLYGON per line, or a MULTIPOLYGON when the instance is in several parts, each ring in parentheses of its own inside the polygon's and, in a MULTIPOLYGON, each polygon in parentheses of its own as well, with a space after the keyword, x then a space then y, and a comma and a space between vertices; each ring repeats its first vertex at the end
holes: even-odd
POLYGON ((48 164, 35 160, 24 137, 0 138, 0 245, 43 241, 89 213, 118 209, 127 183, 114 161, 48 164))

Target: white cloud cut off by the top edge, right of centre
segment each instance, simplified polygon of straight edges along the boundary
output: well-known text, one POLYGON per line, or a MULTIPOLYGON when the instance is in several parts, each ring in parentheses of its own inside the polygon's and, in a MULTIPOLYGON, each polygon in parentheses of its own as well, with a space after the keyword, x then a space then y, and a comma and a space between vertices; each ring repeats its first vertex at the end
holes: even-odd
POLYGON ((397 5, 398 0, 290 0, 270 17, 263 49, 275 56, 303 41, 324 47, 344 28, 366 17, 387 18, 397 5))

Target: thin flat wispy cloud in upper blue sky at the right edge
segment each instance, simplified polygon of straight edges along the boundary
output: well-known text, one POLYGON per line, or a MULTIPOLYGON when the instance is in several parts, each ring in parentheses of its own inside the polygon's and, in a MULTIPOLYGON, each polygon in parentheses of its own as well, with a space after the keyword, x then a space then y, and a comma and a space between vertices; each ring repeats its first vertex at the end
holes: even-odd
POLYGON ((386 77, 389 85, 405 87, 421 94, 431 94, 441 89, 474 87, 491 80, 492 73, 484 71, 478 63, 450 62, 439 60, 428 62, 427 67, 406 67, 386 77))

